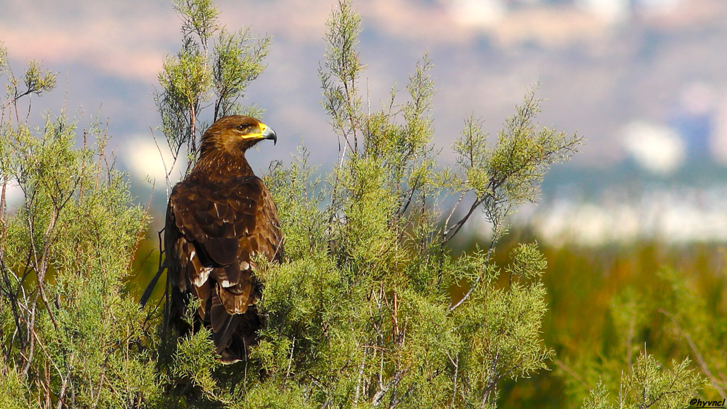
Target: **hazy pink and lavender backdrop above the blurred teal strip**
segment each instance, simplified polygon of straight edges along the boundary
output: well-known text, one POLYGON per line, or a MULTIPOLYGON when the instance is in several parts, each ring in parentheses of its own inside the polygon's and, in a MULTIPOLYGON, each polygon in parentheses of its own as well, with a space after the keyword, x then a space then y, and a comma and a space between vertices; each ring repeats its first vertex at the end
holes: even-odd
MULTIPOLYGON (((329 159, 332 133, 319 105, 316 71, 333 3, 217 1, 220 23, 230 29, 249 25, 253 33, 273 36, 268 68, 247 98, 268 109, 265 122, 280 139, 252 158, 258 168, 288 157, 301 137, 314 159, 329 159)), ((624 138, 630 138, 633 123, 646 124, 639 129, 666 129, 664 135, 672 139, 683 137, 682 128, 699 128, 704 116, 708 135, 696 140, 695 149, 700 143, 713 149, 720 129, 715 123, 727 106, 726 3, 358 1, 364 17, 361 57, 367 63, 362 84, 377 108, 393 84, 406 83, 428 50, 438 84, 435 143, 445 152, 465 116, 481 117, 495 134, 526 87, 539 81, 538 95, 547 99, 541 123, 588 139, 577 162, 607 166, 634 152, 656 152, 656 160, 680 158, 683 153, 669 156, 674 146, 694 148, 694 143, 670 143, 664 153, 661 134, 648 139, 651 145, 624 138)), ((67 78, 68 106, 108 118, 122 155, 150 146, 150 128, 158 125, 151 100, 156 73, 164 54, 180 43, 180 20, 167 1, 4 0, 2 9, 0 41, 16 70, 34 58, 60 72, 59 89, 34 106, 60 106, 67 78)))

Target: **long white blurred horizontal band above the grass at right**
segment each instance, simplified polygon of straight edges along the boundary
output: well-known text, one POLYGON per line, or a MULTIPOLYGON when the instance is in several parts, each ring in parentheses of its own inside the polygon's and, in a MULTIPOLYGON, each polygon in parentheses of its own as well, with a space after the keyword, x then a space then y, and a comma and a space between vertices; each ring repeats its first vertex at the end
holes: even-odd
MULTIPOLYGON (((508 221, 516 229, 532 229, 543 242, 556 247, 629 245, 643 240, 724 243, 726 194, 727 185, 646 188, 631 194, 616 190, 601 199, 556 198, 537 207, 525 205, 508 221)), ((489 229, 482 215, 478 215, 478 226, 489 229)))

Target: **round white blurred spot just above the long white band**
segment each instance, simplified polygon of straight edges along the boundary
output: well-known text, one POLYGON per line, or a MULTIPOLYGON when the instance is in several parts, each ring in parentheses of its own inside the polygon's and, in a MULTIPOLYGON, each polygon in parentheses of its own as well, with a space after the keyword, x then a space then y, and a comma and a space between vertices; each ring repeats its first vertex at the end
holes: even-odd
POLYGON ((684 162, 685 143, 666 125, 634 121, 622 129, 621 136, 627 153, 650 172, 669 174, 684 162))

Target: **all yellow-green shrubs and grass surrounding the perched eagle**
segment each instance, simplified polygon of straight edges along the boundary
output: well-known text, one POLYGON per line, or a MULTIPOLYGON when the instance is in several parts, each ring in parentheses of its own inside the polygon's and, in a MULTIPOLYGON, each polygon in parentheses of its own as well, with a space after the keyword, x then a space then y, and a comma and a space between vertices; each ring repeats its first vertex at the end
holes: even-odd
MULTIPOLYGON (((229 34, 210 0, 174 7, 182 49, 165 58, 155 96, 176 158, 194 154, 209 121, 254 111, 238 98, 270 41, 229 34)), ((300 148, 265 175, 286 255, 258 263, 265 327, 233 365, 214 359, 207 331, 166 327, 164 285, 139 306, 129 289, 158 265, 153 241, 139 245, 148 212, 110 165, 103 129, 81 132, 63 111, 39 129, 20 120, 18 101, 55 76, 31 63, 15 77, 2 49, 0 183, 24 201, 0 204, 1 407, 683 408, 723 394, 723 271, 684 277, 651 247, 503 242, 507 215, 581 138, 539 127, 527 92, 494 138, 465 119, 447 167, 431 143, 429 58, 403 96, 393 88, 384 108, 364 106, 360 30, 340 1, 319 72, 339 147, 332 172, 300 148), (452 248, 474 212, 491 241, 452 248)))

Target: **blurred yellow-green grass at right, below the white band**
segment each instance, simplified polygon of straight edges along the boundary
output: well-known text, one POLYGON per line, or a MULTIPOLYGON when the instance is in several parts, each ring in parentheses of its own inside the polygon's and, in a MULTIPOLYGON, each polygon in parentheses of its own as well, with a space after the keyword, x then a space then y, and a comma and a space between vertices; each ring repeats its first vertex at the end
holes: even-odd
MULTIPOLYGON (((507 265, 518 242, 532 239, 522 231, 508 235, 494 252, 495 261, 507 265)), ((548 292, 542 338, 555 352, 553 370, 528 381, 504 381, 499 405, 576 408, 599 381, 608 396, 618 397, 622 376, 631 373, 645 345, 663 368, 689 357, 690 368, 709 380, 691 398, 721 401, 727 345, 723 247, 541 242, 548 261, 542 275, 548 292)))

